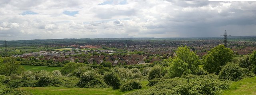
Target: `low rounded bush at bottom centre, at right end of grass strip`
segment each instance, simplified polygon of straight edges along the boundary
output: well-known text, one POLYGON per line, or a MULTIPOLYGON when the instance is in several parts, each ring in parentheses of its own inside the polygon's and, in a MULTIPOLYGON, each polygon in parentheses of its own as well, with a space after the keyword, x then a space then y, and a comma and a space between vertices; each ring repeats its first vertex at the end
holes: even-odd
POLYGON ((120 91, 124 92, 124 91, 130 91, 133 89, 141 89, 141 88, 142 88, 142 84, 140 83, 140 81, 130 80, 130 81, 124 83, 120 87, 120 91))

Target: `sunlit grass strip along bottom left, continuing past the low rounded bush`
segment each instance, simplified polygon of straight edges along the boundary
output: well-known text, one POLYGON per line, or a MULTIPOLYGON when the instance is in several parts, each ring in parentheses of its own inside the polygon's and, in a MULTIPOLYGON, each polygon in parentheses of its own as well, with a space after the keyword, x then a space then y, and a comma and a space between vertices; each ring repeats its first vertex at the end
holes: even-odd
MULTIPOLYGON (((142 89, 148 89, 148 81, 141 81, 142 89)), ((120 92, 112 88, 66 88, 66 87, 20 87, 20 90, 29 91, 34 95, 123 95, 128 92, 120 92)), ((134 90, 133 90, 134 91, 134 90)))

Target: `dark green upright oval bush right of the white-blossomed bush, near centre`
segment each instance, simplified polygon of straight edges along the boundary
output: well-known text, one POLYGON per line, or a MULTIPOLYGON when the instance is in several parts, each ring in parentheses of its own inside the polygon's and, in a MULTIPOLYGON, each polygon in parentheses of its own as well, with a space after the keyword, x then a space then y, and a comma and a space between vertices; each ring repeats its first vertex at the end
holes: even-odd
POLYGON ((112 86, 113 89, 119 89, 120 88, 120 79, 119 76, 114 72, 106 72, 104 73, 103 77, 105 83, 112 86))

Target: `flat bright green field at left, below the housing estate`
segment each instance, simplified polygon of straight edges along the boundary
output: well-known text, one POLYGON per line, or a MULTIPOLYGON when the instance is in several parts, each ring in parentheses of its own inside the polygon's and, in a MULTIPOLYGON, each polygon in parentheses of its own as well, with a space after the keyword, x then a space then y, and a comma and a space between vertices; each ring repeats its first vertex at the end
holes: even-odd
POLYGON ((22 65, 26 70, 31 71, 40 71, 40 70, 46 70, 46 71, 54 71, 54 70, 60 70, 61 67, 47 67, 47 66, 34 66, 34 65, 22 65))

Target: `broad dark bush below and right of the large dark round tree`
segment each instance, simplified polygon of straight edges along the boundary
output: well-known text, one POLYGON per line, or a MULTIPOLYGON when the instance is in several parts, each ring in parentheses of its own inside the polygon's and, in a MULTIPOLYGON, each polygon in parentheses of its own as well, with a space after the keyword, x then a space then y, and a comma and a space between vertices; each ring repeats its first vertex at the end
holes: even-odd
POLYGON ((227 63, 219 73, 219 79, 238 81, 244 77, 251 77, 253 73, 246 68, 239 67, 238 64, 227 63))

